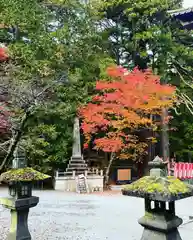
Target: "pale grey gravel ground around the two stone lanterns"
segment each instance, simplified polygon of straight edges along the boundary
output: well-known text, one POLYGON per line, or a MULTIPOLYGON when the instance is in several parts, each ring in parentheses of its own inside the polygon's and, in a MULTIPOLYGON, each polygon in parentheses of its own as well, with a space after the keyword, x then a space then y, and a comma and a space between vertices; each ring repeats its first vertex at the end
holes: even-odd
MULTIPOLYGON (((0 189, 0 196, 7 190, 0 189)), ((30 210, 29 229, 36 240, 139 240, 142 227, 137 220, 144 214, 142 199, 119 194, 78 195, 59 191, 34 191, 40 197, 30 210)), ((183 240, 193 234, 192 198, 177 202, 177 214, 183 218, 180 227, 183 240)), ((0 206, 0 239, 5 240, 10 225, 9 210, 0 206)))

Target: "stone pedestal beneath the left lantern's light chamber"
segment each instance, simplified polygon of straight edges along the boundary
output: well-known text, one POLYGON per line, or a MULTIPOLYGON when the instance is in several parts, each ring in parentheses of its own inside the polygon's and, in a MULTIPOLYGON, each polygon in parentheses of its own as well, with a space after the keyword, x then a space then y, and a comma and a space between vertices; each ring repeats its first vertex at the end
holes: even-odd
POLYGON ((29 209, 38 204, 39 198, 1 198, 0 202, 11 211, 11 227, 7 240, 31 240, 28 229, 28 214, 29 209))

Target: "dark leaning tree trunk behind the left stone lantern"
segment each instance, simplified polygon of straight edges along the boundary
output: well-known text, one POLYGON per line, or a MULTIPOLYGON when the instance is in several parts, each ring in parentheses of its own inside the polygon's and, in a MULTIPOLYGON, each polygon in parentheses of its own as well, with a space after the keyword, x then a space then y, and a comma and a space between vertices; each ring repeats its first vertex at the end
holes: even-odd
POLYGON ((16 130, 15 134, 12 137, 11 143, 9 145, 9 149, 7 152, 6 157, 4 158, 3 162, 0 165, 0 171, 5 167, 5 165, 8 165, 13 153, 17 147, 18 142, 20 141, 22 135, 23 135, 23 130, 25 127, 25 123, 27 122, 28 118, 29 118, 30 114, 29 113, 25 113, 21 119, 21 124, 19 129, 16 130))

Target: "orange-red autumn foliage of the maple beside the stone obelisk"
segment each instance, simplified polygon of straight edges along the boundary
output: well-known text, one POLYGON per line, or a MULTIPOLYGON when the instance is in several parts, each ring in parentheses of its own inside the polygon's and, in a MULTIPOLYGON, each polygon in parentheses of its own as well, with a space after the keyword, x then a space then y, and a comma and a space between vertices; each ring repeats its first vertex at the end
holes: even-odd
POLYGON ((85 148, 91 140, 95 149, 118 153, 121 158, 137 159, 145 154, 147 143, 137 131, 155 129, 152 116, 171 107, 175 88, 161 85, 150 70, 132 72, 122 67, 107 69, 109 80, 96 83, 97 94, 80 110, 85 148), (94 139, 94 140, 93 140, 94 139))

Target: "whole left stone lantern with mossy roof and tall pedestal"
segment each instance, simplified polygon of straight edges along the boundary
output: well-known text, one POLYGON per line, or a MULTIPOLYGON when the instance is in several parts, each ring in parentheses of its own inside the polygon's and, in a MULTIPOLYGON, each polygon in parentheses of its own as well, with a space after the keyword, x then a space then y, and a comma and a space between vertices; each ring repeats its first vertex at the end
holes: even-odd
POLYGON ((8 183, 10 195, 0 199, 0 203, 11 210, 11 229, 7 240, 31 240, 28 229, 29 209, 39 202, 39 197, 32 196, 32 183, 49 177, 26 167, 24 154, 20 151, 14 154, 13 169, 1 174, 1 181, 8 183))

